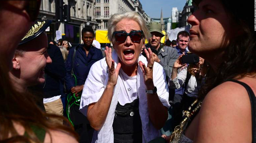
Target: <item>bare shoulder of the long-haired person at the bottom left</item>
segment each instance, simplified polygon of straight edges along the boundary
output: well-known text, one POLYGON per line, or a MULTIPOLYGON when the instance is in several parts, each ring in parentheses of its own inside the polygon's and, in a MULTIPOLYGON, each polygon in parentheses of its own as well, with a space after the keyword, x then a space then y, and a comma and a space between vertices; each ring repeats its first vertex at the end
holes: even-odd
MULTIPOLYGON (((50 134, 52 137, 52 143, 78 143, 73 136, 62 131, 50 130, 50 134)), ((46 133, 44 143, 50 143, 51 137, 48 133, 46 133)))

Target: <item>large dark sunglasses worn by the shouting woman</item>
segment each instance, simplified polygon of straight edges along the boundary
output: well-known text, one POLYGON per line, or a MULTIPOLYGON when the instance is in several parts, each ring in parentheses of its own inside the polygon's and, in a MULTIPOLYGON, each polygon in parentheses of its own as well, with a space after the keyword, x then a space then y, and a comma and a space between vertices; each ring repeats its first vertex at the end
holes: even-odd
POLYGON ((116 42, 125 42, 127 36, 130 36, 132 42, 140 42, 143 36, 142 30, 133 30, 130 33, 125 31, 115 31, 113 32, 116 42))

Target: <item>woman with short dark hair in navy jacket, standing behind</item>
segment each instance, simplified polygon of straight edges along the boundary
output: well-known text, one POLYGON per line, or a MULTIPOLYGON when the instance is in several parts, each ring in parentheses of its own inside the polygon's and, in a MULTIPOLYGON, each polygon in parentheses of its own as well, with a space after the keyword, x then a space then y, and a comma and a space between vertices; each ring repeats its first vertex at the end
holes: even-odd
MULTIPOLYGON (((81 32, 83 44, 69 50, 66 66, 65 84, 67 91, 78 96, 83 90, 83 84, 87 78, 92 64, 103 58, 100 49, 92 46, 94 31, 92 27, 86 26, 81 32), (75 75, 76 78, 73 78, 75 75)), ((93 129, 90 127, 87 118, 79 111, 79 106, 73 104, 70 107, 70 119, 74 124, 75 130, 80 134, 80 142, 90 142, 93 129), (87 127, 88 126, 88 127, 87 127), (87 128, 91 131, 88 138, 87 128)))

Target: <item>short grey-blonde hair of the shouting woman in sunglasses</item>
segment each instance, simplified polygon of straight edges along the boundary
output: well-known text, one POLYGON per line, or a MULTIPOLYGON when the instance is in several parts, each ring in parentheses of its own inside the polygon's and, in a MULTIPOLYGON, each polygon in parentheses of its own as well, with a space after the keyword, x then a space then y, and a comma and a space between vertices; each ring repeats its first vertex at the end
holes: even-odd
POLYGON ((108 40, 110 42, 114 42, 114 38, 113 36, 113 32, 115 31, 116 28, 116 24, 118 22, 120 22, 123 19, 129 19, 129 20, 134 20, 135 22, 137 22, 140 26, 140 29, 143 31, 143 43, 145 43, 145 39, 149 39, 151 37, 151 34, 147 28, 147 24, 145 22, 145 20, 135 11, 128 11, 128 12, 124 12, 121 14, 114 14, 110 17, 110 19, 108 20, 108 40))

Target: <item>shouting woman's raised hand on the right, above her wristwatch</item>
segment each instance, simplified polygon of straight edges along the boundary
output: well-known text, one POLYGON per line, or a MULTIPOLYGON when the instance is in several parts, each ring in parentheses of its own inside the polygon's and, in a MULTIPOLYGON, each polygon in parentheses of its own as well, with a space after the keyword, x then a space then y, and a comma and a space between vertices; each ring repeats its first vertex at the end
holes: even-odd
POLYGON ((145 83, 147 89, 153 89, 154 88, 153 65, 154 65, 155 58, 154 58, 150 48, 148 48, 148 50, 145 48, 144 51, 145 51, 145 54, 147 55, 148 65, 146 67, 146 65, 144 63, 142 63, 141 61, 139 61, 139 65, 143 72, 144 83, 145 83))

